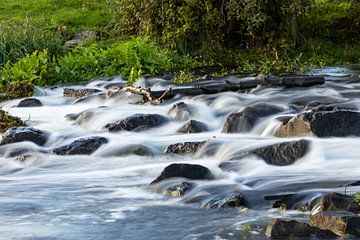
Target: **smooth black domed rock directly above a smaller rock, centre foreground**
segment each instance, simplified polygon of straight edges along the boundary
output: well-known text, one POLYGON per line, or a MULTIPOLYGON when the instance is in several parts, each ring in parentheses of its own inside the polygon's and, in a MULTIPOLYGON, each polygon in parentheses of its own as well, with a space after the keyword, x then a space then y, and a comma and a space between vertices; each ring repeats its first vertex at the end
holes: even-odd
POLYGON ((154 181, 150 184, 158 183, 162 180, 174 177, 188 178, 193 180, 212 179, 209 169, 198 164, 173 163, 167 166, 154 181))

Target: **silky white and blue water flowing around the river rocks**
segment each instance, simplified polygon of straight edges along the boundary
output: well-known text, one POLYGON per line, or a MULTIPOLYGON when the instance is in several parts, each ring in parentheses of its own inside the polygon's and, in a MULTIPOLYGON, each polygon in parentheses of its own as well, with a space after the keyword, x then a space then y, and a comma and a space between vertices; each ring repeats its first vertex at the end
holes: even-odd
MULTIPOLYGON (((272 209, 263 196, 343 192, 342 184, 359 180, 360 138, 307 137, 312 142, 310 151, 290 166, 268 165, 255 157, 239 159, 236 171, 223 171, 219 164, 236 158, 241 150, 289 140, 272 136, 280 124, 277 115, 263 119, 250 133, 221 133, 231 111, 267 102, 294 113, 294 109, 300 112, 311 101, 336 102, 360 109, 360 80, 353 76, 356 70, 327 68, 313 74, 325 75, 326 83, 310 88, 266 87, 246 93, 179 96, 158 106, 136 104, 139 97, 129 94, 79 102, 63 97, 61 87, 37 89, 35 95, 42 101, 42 107, 14 107, 19 100, 2 103, 2 108, 11 115, 48 132, 49 140, 44 147, 16 143, 0 148, 0 239, 266 239, 264 231, 271 218, 306 219, 306 212, 272 209), (210 131, 177 134, 184 121, 175 120, 141 132, 103 130, 107 123, 135 113, 157 113, 171 118, 168 110, 180 101, 196 109, 192 119, 206 123, 210 131), (81 125, 66 117, 88 109, 94 114, 81 125), (88 136, 103 136, 109 142, 90 156, 49 153, 54 147, 88 136), (169 144, 203 140, 217 146, 213 154, 164 153, 169 144), (153 154, 116 154, 136 145, 147 146, 153 154), (26 161, 7 157, 7 152, 22 146, 34 150, 26 161), (197 186, 184 197, 166 197, 161 189, 150 187, 149 183, 164 167, 175 162, 203 165, 215 179, 192 181, 197 186), (203 207, 206 200, 235 191, 245 195, 248 208, 203 207)), ((155 80, 153 89, 169 84, 155 80)), ((97 80, 85 87, 104 89, 118 82, 122 81, 97 80)), ((347 191, 354 193, 360 189, 349 187, 347 191)))

